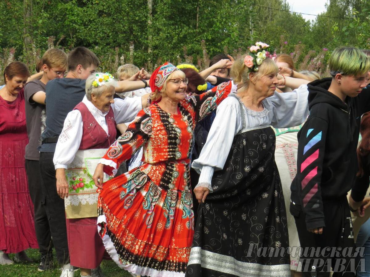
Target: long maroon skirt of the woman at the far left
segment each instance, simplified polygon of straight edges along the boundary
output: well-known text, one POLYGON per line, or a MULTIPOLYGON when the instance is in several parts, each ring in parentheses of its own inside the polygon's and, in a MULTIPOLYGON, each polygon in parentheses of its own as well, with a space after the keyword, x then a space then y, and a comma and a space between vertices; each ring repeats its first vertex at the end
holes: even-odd
POLYGON ((38 248, 24 167, 27 143, 27 133, 12 136, 0 130, 0 250, 5 253, 38 248))

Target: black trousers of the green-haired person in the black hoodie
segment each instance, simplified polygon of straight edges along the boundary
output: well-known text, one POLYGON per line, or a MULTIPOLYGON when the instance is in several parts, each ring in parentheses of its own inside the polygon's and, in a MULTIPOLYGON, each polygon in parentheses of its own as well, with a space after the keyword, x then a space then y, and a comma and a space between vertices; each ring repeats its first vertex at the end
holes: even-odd
POLYGON ((290 203, 290 213, 294 216, 302 252, 303 276, 333 277, 355 276, 360 266, 360 249, 353 240, 351 214, 347 198, 324 200, 325 227, 322 235, 307 231, 305 214, 299 205, 290 203))

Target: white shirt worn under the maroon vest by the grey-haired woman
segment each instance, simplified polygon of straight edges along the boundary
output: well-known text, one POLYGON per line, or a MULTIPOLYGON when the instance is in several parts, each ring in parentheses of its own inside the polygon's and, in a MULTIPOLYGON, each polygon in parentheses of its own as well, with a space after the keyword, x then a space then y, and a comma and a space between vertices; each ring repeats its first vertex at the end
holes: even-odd
MULTIPOLYGON (((101 112, 94 106, 86 96, 82 102, 87 106, 97 123, 108 134, 108 125, 105 122, 105 116, 108 112, 101 112)), ((142 109, 141 97, 114 99, 114 104, 111 104, 116 123, 129 122, 135 119, 135 116, 142 109)), ((64 120, 63 130, 59 136, 53 163, 55 169, 65 168, 70 164, 74 156, 80 148, 83 133, 82 115, 79 110, 73 110, 67 114, 64 120)))

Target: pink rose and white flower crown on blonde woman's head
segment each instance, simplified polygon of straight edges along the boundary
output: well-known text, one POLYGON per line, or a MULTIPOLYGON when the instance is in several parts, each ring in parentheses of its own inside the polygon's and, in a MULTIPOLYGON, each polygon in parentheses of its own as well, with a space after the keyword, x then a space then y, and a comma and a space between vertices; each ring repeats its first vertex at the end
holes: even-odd
POLYGON ((249 47, 249 52, 249 55, 246 55, 244 58, 244 64, 249 69, 248 72, 258 71, 258 66, 266 58, 273 59, 274 61, 276 59, 275 48, 260 41, 256 42, 256 45, 249 47))

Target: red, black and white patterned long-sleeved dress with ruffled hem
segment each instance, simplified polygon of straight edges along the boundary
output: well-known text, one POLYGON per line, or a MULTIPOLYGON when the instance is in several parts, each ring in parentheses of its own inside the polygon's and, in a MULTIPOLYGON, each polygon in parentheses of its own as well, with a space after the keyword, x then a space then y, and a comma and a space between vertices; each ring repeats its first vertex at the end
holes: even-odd
POLYGON ((144 164, 98 190, 105 248, 122 268, 143 276, 184 276, 194 235, 189 163, 195 124, 236 86, 222 83, 187 96, 178 114, 157 104, 141 110, 101 160, 112 174, 143 145, 144 164))

